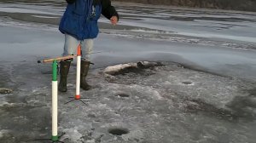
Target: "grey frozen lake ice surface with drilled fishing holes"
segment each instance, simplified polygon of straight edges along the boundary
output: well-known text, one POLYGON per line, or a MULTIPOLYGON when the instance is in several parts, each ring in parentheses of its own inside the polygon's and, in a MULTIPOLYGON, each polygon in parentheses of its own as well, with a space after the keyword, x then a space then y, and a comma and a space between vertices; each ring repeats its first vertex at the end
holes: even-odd
MULTIPOLYGON (((0 140, 44 142, 36 139, 51 134, 50 64, 36 61, 61 55, 65 3, 0 3, 0 140)), ((255 142, 255 13, 114 5, 121 19, 100 20, 88 77, 94 89, 81 92, 87 105, 64 105, 75 91, 75 63, 60 93, 61 140, 255 142), (137 66, 142 60, 153 62, 137 66)))

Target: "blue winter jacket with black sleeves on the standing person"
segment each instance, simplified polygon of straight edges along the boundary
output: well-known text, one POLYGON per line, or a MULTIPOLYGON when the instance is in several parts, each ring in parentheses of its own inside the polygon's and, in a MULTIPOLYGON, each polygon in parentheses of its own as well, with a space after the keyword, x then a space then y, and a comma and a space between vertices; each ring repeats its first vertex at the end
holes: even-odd
POLYGON ((79 40, 95 38, 99 33, 97 20, 101 14, 108 19, 114 15, 119 17, 110 0, 75 0, 74 3, 67 3, 59 30, 79 40))

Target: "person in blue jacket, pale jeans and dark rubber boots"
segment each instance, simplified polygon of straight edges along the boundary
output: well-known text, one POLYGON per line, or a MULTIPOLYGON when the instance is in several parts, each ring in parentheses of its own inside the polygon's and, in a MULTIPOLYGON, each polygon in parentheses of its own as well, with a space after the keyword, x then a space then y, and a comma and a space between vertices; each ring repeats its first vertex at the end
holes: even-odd
MULTIPOLYGON (((85 77, 90 67, 90 54, 93 48, 93 39, 97 37, 99 28, 97 21, 101 14, 113 25, 119 21, 119 14, 112 6, 110 0, 66 0, 67 8, 61 17, 59 30, 65 34, 65 44, 62 56, 74 54, 77 47, 81 46, 81 80, 80 87, 84 90, 91 89, 85 77)), ((58 90, 67 92, 67 75, 71 60, 60 62, 60 83, 58 90)))

